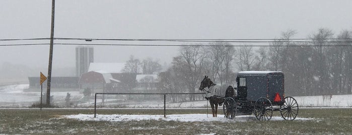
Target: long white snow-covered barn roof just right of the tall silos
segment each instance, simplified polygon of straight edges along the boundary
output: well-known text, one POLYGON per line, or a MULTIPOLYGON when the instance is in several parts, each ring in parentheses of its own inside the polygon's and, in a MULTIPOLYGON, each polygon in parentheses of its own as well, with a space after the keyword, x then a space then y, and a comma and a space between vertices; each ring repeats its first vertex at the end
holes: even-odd
MULTIPOLYGON (((88 72, 104 71, 106 73, 122 73, 125 63, 90 63, 88 72)), ((102 73, 103 74, 103 73, 102 73)))

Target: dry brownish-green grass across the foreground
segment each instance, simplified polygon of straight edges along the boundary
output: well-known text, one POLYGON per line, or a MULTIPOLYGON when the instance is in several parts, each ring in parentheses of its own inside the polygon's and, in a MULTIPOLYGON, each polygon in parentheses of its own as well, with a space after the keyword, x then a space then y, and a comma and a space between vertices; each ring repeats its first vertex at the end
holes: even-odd
MULTIPOLYGON (((163 114, 162 109, 98 109, 99 114, 163 114)), ((300 109, 314 120, 179 122, 79 121, 61 115, 93 114, 93 109, 0 109, 0 133, 9 134, 351 134, 351 108, 300 109)), ((206 113, 206 109, 168 109, 167 114, 206 113)), ((279 115, 275 112, 274 115, 279 115)))

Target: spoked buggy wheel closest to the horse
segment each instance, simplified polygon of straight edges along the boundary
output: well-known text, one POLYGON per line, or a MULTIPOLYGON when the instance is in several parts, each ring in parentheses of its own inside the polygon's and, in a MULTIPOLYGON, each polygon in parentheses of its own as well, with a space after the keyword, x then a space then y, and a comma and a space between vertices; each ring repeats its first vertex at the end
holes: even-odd
POLYGON ((237 114, 236 101, 231 97, 226 98, 224 101, 223 109, 226 118, 234 118, 237 114))

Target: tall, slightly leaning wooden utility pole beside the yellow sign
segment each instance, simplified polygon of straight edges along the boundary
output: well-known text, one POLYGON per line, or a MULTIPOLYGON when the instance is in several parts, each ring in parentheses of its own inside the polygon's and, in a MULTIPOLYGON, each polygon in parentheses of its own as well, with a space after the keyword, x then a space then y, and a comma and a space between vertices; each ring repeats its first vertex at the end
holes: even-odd
POLYGON ((46 87, 46 105, 47 106, 50 106, 52 49, 53 49, 53 44, 54 44, 54 16, 55 16, 55 0, 52 0, 51 1, 51 30, 50 30, 49 66, 48 66, 48 80, 47 80, 47 87, 46 87))

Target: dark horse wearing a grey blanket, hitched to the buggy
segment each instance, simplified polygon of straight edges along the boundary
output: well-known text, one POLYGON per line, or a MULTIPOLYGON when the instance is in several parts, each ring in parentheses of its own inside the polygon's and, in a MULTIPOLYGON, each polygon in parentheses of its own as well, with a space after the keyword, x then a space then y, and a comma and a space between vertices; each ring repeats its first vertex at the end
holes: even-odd
POLYGON ((212 107, 213 117, 218 117, 218 105, 222 106, 227 97, 235 97, 235 90, 229 84, 216 85, 208 76, 205 76, 199 86, 200 91, 205 91, 205 99, 212 107), (207 88, 207 90, 205 90, 207 88))

